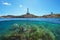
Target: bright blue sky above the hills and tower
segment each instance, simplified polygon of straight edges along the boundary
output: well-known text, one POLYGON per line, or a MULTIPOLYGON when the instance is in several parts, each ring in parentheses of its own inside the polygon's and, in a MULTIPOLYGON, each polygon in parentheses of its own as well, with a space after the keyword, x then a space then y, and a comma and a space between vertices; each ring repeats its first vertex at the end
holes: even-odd
POLYGON ((38 16, 60 14, 60 0, 0 0, 0 15, 23 15, 27 8, 38 16))

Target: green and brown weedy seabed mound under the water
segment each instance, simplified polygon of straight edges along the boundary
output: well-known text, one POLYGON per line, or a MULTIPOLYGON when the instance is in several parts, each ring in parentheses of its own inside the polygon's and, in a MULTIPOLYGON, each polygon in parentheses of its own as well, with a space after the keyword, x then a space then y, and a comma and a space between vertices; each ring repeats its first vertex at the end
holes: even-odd
POLYGON ((0 35, 0 40, 55 40, 52 31, 36 24, 12 24, 5 35, 0 35))

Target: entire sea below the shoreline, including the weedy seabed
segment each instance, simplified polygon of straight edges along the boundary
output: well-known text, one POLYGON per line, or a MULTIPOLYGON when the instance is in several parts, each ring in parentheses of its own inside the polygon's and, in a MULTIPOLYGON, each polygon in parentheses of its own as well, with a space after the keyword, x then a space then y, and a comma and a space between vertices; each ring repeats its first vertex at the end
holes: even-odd
POLYGON ((60 40, 60 18, 0 18, 0 40, 60 40))

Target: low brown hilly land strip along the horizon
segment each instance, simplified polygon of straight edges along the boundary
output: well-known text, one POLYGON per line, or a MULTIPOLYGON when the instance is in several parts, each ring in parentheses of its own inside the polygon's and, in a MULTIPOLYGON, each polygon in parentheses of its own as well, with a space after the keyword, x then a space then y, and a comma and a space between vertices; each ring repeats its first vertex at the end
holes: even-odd
POLYGON ((33 14, 24 14, 20 16, 7 15, 7 16, 1 16, 1 18, 60 18, 60 14, 50 14, 43 16, 36 16, 33 14))

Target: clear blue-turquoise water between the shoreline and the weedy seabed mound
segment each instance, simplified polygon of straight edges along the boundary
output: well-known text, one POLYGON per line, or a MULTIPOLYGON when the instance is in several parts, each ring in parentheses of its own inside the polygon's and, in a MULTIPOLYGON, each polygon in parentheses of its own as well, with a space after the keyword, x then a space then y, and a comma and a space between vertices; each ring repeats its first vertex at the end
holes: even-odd
MULTIPOLYGON (((4 35, 8 29, 12 28, 13 24, 19 25, 36 25, 37 27, 45 27, 49 29, 56 37, 56 40, 60 40, 60 18, 21 18, 21 19, 1 19, 0 20, 0 34, 4 35)), ((24 26, 25 27, 25 26, 24 26)))

